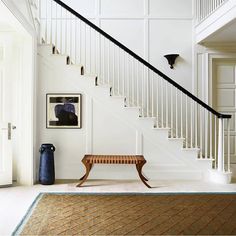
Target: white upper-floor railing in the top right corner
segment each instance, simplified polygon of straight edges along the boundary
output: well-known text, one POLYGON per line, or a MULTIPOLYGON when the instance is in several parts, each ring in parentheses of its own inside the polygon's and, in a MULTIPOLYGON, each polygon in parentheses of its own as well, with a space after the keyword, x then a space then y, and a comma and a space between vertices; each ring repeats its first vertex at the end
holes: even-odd
POLYGON ((196 0, 195 17, 196 23, 200 23, 211 15, 216 9, 228 0, 196 0))

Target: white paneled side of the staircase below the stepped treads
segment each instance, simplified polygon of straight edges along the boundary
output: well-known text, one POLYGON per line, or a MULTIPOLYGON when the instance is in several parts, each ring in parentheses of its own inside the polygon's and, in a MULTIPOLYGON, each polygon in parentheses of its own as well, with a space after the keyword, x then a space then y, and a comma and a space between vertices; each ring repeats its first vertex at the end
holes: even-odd
MULTIPOLYGON (((45 120, 39 118, 38 145, 49 141, 61 145, 56 159, 57 178, 82 175, 81 159, 86 153, 143 154, 147 160, 143 170, 151 179, 203 178, 210 161, 198 160, 197 151, 183 151, 183 141, 169 140, 168 129, 154 129, 154 119, 140 118, 139 108, 125 107, 123 97, 110 96, 109 86, 95 86, 94 77, 80 75, 79 67, 66 62, 63 65, 63 60, 61 55, 39 50, 39 98, 49 92, 82 93, 81 130, 47 130, 42 128, 45 120), (63 137, 73 140, 73 145, 63 143, 63 137), (65 158, 68 147, 74 149, 69 150, 70 159, 65 158)), ((45 105, 39 105, 38 114, 45 116, 44 110, 45 105)), ((137 173, 131 165, 97 165, 91 177, 136 179, 137 173)))

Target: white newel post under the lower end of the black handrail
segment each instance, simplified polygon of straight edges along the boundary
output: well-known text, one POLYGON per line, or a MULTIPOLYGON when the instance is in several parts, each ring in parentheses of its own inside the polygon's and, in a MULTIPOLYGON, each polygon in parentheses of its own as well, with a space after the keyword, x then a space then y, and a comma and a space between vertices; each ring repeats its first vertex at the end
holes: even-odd
POLYGON ((218 171, 224 172, 224 119, 219 118, 218 171))

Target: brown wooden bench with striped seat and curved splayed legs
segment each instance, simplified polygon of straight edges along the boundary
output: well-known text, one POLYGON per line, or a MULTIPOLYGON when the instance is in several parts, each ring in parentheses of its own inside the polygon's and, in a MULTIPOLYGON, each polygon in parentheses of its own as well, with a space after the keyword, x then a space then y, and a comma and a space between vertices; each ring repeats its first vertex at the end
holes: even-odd
POLYGON ((81 182, 76 187, 80 187, 88 178, 93 164, 135 164, 140 179, 148 188, 151 188, 146 183, 148 180, 142 174, 143 165, 146 163, 142 155, 85 155, 82 163, 85 165, 86 173, 80 178, 81 182))

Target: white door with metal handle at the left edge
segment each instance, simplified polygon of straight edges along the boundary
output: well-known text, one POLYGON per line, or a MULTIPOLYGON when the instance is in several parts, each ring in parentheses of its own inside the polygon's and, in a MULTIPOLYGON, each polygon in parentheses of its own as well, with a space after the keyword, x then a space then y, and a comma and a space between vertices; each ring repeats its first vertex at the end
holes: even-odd
POLYGON ((0 68, 0 185, 12 184, 11 123, 9 118, 9 87, 0 68))

